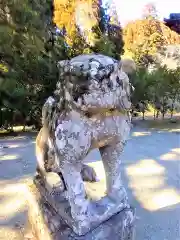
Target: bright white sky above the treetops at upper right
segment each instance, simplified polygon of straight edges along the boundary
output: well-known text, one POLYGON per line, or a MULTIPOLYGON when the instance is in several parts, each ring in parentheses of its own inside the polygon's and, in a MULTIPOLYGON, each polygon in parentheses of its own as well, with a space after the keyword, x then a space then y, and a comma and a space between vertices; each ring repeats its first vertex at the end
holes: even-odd
MULTIPOLYGON (((110 2, 112 0, 103 0, 110 2)), ((142 8, 149 2, 153 2, 160 19, 168 18, 170 13, 180 13, 180 0, 113 0, 119 15, 121 25, 142 16, 142 8)))

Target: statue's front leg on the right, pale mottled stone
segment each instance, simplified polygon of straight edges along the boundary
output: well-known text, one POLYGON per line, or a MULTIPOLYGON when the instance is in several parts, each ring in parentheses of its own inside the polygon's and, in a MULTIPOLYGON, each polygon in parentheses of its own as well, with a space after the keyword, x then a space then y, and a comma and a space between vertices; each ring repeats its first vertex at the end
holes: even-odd
POLYGON ((126 190, 121 179, 121 159, 124 143, 101 147, 100 153, 106 173, 107 195, 114 200, 127 202, 126 190))

